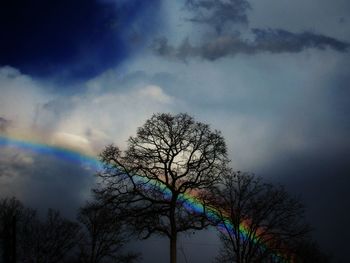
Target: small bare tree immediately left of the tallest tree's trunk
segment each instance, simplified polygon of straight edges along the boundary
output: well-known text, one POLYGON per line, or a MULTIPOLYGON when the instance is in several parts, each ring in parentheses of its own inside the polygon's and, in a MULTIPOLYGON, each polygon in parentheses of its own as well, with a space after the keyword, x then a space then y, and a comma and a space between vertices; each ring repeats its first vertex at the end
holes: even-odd
POLYGON ((80 242, 81 262, 134 262, 138 259, 138 254, 122 251, 129 237, 115 210, 88 203, 80 209, 78 220, 85 230, 80 242))

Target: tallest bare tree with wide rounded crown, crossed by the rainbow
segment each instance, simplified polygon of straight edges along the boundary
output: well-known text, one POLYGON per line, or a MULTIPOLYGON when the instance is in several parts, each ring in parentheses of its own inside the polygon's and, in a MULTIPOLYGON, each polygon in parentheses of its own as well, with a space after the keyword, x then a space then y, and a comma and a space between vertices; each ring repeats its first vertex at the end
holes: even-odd
POLYGON ((176 262, 178 233, 209 225, 204 213, 186 209, 187 194, 212 187, 226 170, 221 133, 187 114, 155 114, 130 137, 127 149, 108 146, 101 154, 105 169, 97 193, 125 204, 129 222, 147 238, 170 240, 170 262, 176 262))

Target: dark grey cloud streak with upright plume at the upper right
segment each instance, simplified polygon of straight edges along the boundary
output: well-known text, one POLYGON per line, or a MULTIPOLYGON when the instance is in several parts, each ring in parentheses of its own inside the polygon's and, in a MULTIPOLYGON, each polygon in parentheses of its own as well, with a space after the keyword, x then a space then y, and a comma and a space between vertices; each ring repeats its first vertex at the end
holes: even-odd
POLYGON ((308 48, 345 52, 349 48, 349 43, 328 34, 303 30, 295 33, 283 28, 247 29, 248 11, 252 7, 246 0, 187 0, 186 7, 193 13, 189 21, 206 25, 215 32, 206 28, 202 40, 193 41, 196 44, 189 38, 180 45, 168 43, 167 38, 157 39, 152 48, 158 55, 184 61, 191 57, 212 61, 236 54, 298 53, 308 48))

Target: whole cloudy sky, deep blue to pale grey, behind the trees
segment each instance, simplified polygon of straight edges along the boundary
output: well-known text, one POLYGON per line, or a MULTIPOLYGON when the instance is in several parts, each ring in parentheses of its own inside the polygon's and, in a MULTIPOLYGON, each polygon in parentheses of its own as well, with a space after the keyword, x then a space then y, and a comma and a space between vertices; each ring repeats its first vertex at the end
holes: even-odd
MULTIPOLYGON (((235 170, 300 196, 321 247, 349 262, 349 28, 348 0, 4 0, 0 133, 97 155, 153 113, 187 112, 222 131, 235 170)), ((93 183, 0 147, 0 196, 72 215, 93 183)), ((193 262, 202 239, 184 239, 193 262)))

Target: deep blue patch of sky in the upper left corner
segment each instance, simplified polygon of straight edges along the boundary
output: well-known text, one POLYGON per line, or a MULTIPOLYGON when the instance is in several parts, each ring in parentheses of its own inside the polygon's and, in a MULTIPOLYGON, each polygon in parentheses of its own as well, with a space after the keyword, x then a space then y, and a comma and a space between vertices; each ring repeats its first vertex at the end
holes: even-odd
POLYGON ((154 29, 159 1, 6 0, 0 65, 35 76, 84 79, 128 57, 130 39, 154 29), (149 13, 152 13, 152 16, 149 13))

